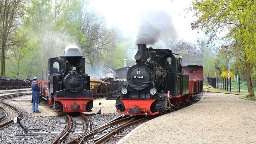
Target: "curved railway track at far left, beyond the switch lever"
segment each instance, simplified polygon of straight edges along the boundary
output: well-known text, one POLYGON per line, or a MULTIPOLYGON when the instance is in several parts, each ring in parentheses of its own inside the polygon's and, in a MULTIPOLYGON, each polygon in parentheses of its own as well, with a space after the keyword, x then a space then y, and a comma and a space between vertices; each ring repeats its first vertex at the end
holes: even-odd
POLYGON ((2 96, 0 100, 0 109, 3 111, 3 115, 0 117, 0 128, 5 127, 13 122, 13 118, 16 116, 20 116, 20 111, 13 107, 12 105, 4 102, 4 100, 8 98, 18 97, 29 95, 30 93, 23 93, 23 94, 11 94, 7 96, 2 96))

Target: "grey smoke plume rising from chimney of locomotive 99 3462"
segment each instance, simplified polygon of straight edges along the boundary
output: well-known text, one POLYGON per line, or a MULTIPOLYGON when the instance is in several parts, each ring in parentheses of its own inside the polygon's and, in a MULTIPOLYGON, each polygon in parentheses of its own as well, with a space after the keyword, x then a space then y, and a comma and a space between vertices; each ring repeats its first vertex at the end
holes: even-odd
POLYGON ((171 16, 162 10, 150 10, 141 18, 136 44, 155 44, 160 40, 168 42, 176 37, 171 16))

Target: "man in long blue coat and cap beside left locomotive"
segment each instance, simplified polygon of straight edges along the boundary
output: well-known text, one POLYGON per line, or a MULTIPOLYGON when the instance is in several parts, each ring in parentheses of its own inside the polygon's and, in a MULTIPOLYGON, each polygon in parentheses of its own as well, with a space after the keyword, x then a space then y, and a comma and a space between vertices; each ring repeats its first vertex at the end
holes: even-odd
POLYGON ((33 110, 33 113, 41 113, 38 110, 38 103, 40 103, 40 97, 39 97, 40 88, 39 88, 39 86, 36 83, 36 79, 37 79, 37 77, 34 77, 33 78, 33 82, 31 84, 31 89, 32 89, 32 101, 31 101, 31 103, 32 103, 32 110, 33 110))

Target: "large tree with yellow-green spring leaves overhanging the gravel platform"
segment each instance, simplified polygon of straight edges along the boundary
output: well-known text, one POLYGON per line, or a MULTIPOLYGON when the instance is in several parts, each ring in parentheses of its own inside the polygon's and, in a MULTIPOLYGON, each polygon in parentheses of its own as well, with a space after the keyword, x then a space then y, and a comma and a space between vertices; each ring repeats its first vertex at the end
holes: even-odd
POLYGON ((255 65, 256 37, 254 0, 195 0, 189 9, 196 20, 191 22, 192 30, 204 30, 209 40, 221 40, 222 46, 215 50, 229 57, 243 56, 246 67, 248 96, 254 96, 251 82, 251 64, 255 65), (220 37, 221 34, 225 35, 220 37))

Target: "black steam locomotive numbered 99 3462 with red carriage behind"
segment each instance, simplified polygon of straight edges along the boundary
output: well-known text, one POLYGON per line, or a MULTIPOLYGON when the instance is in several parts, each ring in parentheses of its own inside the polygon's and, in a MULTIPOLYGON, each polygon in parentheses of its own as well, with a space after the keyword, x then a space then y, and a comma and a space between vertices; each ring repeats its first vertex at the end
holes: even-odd
POLYGON ((117 112, 155 115, 190 103, 192 95, 202 91, 203 66, 181 67, 182 59, 169 49, 138 44, 136 65, 126 76, 128 85, 116 95, 117 112))

